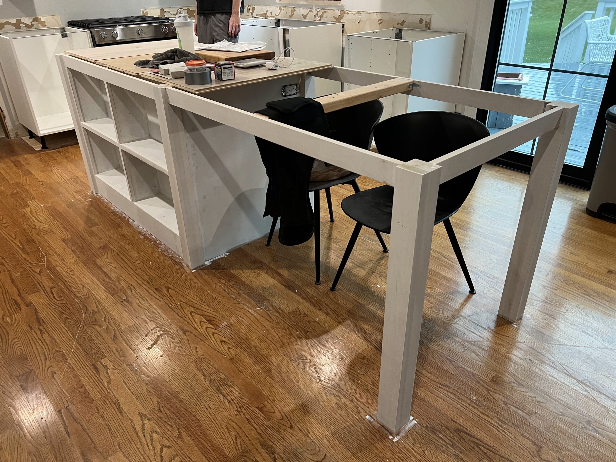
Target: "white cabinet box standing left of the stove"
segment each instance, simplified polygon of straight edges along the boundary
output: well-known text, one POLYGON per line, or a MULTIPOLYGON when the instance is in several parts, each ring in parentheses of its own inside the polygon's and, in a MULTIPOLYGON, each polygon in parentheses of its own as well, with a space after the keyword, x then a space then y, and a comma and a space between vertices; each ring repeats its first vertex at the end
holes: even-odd
POLYGON ((1 69, 18 121, 30 132, 44 137, 73 129, 55 55, 89 47, 89 31, 71 27, 0 34, 1 69))

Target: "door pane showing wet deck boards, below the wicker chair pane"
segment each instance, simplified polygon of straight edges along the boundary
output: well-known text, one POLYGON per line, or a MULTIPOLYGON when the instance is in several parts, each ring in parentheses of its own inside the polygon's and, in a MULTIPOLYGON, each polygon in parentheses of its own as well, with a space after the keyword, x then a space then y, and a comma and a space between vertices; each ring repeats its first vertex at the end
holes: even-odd
POLYGON ((547 100, 561 100, 580 105, 565 157, 567 164, 578 167, 584 165, 606 83, 607 79, 602 77, 587 77, 562 72, 553 72, 550 76, 547 100))

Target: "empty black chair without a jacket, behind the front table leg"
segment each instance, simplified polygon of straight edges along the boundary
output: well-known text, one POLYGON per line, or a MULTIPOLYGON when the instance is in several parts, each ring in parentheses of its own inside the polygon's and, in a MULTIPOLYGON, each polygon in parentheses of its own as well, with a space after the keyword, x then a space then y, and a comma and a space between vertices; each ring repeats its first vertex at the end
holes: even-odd
MULTIPOLYGON (((490 136, 490 132, 479 121, 465 115, 440 111, 402 114, 384 120, 375 127, 375 142, 379 153, 403 162, 413 159, 429 162, 487 136, 490 136)), ((440 185, 434 217, 434 225, 440 222, 445 225, 471 294, 475 293, 475 288, 449 218, 468 197, 480 170, 481 166, 476 167, 440 185)), ((394 188, 389 185, 358 192, 342 200, 342 211, 357 224, 351 233, 331 290, 336 290, 344 265, 363 226, 391 233, 393 201, 394 188)))

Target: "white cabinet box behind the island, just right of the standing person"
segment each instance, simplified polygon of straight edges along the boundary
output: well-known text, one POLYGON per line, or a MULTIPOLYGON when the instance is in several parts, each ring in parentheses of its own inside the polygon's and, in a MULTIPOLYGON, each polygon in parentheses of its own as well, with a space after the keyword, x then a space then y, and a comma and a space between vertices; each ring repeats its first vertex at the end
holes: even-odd
MULTIPOLYGON (((287 56, 342 65, 342 24, 285 18, 249 18, 241 20, 240 41, 267 42, 265 49, 278 56, 286 47, 287 56)), ((340 83, 315 79, 315 95, 340 91, 340 83)))

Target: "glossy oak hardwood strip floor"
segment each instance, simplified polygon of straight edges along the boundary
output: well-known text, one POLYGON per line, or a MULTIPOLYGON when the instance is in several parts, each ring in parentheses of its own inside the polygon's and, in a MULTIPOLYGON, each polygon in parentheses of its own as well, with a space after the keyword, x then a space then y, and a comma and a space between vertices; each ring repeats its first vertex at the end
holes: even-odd
MULTIPOLYGON (((188 272, 92 195, 76 146, 0 140, 0 461, 613 461, 616 225, 560 186, 524 319, 496 318, 526 176, 435 228, 412 414, 375 415, 387 254, 353 223, 188 272)), ((373 185, 360 181, 362 187, 373 185)), ((387 237, 386 237, 387 240, 387 237)), ((387 240, 388 241, 388 240, 387 240)))

